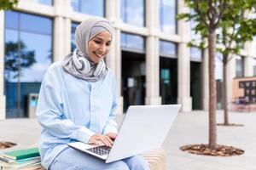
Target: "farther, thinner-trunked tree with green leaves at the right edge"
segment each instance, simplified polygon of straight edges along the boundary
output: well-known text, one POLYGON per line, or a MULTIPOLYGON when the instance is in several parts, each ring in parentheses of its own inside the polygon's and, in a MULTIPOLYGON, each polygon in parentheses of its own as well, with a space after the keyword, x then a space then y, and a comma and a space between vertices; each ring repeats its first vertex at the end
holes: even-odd
POLYGON ((247 41, 256 35, 256 19, 245 16, 248 12, 255 14, 256 0, 230 1, 229 12, 224 13, 219 22, 217 50, 223 54, 224 83, 224 125, 230 125, 227 99, 227 65, 233 54, 239 54, 247 41))

